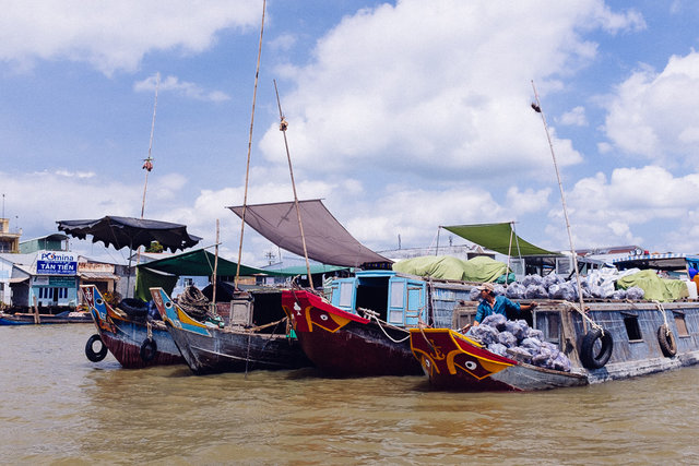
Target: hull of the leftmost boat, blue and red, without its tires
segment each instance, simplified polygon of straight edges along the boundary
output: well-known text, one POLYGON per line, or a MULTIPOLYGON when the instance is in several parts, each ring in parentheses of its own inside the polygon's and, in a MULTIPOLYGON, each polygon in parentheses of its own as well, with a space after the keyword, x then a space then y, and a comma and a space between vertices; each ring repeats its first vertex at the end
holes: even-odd
POLYGON ((141 345, 149 336, 145 322, 126 319, 107 304, 94 285, 81 286, 85 301, 90 307, 97 333, 109 353, 125 369, 142 369, 152 366, 181 365, 185 362, 175 340, 165 325, 152 323, 151 337, 156 351, 153 359, 141 358, 141 345))

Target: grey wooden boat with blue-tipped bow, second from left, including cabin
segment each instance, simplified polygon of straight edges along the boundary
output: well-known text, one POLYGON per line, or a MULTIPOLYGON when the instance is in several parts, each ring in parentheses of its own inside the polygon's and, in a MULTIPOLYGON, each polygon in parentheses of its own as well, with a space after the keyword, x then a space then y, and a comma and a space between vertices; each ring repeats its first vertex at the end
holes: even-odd
POLYGON ((298 340, 287 332, 279 290, 257 295, 259 302, 254 307, 254 296, 234 300, 233 325, 223 328, 192 319, 162 288, 151 288, 151 294, 196 374, 298 369, 311 365, 298 340), (269 304, 262 304, 264 301, 269 304))

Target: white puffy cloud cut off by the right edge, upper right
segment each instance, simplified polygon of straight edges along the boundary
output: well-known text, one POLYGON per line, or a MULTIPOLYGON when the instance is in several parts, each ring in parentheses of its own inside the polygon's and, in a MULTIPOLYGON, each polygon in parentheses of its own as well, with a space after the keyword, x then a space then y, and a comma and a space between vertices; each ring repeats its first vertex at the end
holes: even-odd
POLYGON ((671 167, 699 168, 699 52, 642 67, 607 104, 605 130, 621 152, 671 167))

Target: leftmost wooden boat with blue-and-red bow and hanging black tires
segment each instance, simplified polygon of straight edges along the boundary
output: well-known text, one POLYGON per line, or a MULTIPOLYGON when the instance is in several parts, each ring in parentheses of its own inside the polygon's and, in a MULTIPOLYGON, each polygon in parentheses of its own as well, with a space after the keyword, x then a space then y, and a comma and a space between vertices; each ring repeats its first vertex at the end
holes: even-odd
POLYGON ((105 358, 107 350, 126 369, 179 365, 185 360, 162 321, 145 315, 134 318, 107 303, 94 285, 81 285, 85 302, 97 327, 90 337, 85 355, 93 362, 105 358), (94 345, 100 342, 98 350, 94 345))

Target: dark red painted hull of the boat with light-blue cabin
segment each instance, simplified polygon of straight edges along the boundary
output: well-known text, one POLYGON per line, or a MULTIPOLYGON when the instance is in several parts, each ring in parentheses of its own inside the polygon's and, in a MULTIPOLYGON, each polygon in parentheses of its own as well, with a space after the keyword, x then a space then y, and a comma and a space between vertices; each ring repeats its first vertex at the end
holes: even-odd
POLYGON ((304 351, 333 375, 416 375, 422 373, 408 333, 351 314, 307 291, 282 292, 304 351))

